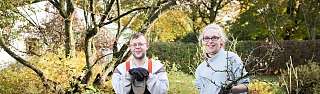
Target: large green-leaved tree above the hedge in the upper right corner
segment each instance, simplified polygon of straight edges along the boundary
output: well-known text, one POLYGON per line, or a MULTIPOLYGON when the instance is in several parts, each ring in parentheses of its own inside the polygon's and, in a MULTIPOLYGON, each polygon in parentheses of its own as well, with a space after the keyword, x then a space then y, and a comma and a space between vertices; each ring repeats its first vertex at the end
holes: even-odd
POLYGON ((311 33, 313 37, 317 35, 313 27, 319 18, 307 15, 319 12, 314 8, 317 3, 303 0, 244 2, 244 10, 237 21, 232 23, 230 32, 239 40, 264 40, 271 37, 281 40, 312 39, 311 33))

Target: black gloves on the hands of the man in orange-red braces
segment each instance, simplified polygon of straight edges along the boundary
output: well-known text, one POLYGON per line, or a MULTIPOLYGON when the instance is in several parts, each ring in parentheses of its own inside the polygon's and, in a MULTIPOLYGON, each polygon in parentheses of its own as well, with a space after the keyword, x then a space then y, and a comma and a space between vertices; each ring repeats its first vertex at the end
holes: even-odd
POLYGON ((147 80, 149 77, 149 72, 145 68, 132 68, 129 70, 129 74, 137 81, 147 80))

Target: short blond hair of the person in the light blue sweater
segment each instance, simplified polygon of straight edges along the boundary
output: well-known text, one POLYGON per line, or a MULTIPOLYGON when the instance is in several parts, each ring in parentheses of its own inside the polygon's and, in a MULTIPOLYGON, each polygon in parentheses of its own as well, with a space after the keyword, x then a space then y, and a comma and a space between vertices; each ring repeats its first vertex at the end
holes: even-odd
POLYGON ((202 43, 202 39, 203 39, 203 34, 204 32, 207 31, 215 31, 218 32, 221 36, 221 40, 222 42, 225 44, 228 41, 228 38, 224 32, 224 29, 222 28, 222 26, 216 24, 216 23, 212 23, 207 25, 206 27, 204 27, 203 32, 200 33, 199 35, 199 42, 202 43))

